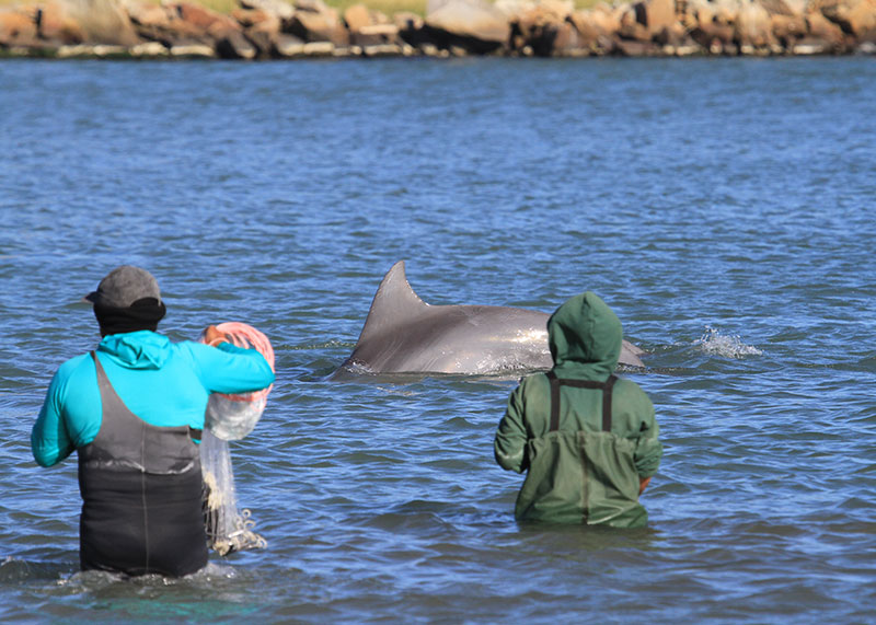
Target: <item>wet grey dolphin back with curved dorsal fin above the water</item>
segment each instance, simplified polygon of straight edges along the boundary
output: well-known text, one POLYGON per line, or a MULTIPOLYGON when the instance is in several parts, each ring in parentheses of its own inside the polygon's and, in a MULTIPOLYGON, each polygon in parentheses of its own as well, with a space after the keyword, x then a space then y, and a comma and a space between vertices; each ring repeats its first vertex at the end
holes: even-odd
MULTIPOLYGON (((429 305, 399 261, 383 277, 365 327, 342 369, 369 373, 486 374, 553 367, 549 314, 488 305, 429 305)), ((620 363, 644 367, 626 340, 620 363)))

